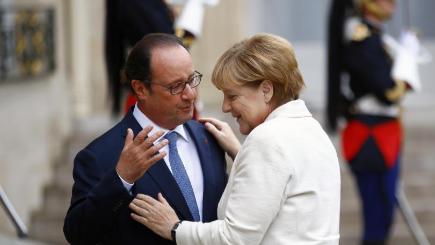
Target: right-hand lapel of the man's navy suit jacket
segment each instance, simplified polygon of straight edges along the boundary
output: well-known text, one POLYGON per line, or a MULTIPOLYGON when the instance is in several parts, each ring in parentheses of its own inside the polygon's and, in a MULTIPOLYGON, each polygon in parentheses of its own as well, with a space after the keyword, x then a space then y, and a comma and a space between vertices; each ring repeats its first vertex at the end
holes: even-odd
POLYGON ((213 191, 210 190, 213 189, 212 186, 214 183, 213 169, 211 168, 213 163, 209 163, 212 159, 210 145, 204 128, 199 127, 192 121, 187 122, 185 128, 195 143, 196 149, 198 150, 199 160, 201 162, 204 179, 202 218, 203 221, 207 221, 211 215, 210 212, 216 211, 209 210, 210 206, 215 209, 215 207, 209 202, 209 200, 213 200, 213 198, 211 198, 213 191))

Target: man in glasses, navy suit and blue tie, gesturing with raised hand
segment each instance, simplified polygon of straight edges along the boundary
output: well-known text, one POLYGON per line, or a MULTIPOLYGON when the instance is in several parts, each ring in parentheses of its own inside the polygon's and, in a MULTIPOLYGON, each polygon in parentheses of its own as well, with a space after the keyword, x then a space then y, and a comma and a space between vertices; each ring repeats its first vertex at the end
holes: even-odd
POLYGON ((194 71, 190 54, 173 35, 149 34, 130 52, 125 73, 137 104, 74 160, 64 223, 73 244, 172 244, 132 220, 128 204, 138 193, 162 193, 181 220, 216 219, 227 179, 225 157, 205 128, 191 120, 202 75, 194 71), (167 137, 171 134, 178 140, 167 137), (168 139, 176 141, 187 182, 180 182, 168 139))

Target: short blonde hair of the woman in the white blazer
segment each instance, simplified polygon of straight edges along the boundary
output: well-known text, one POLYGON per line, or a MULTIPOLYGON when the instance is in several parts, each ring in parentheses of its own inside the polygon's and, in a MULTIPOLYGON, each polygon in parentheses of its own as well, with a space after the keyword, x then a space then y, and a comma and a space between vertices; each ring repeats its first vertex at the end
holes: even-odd
POLYGON ((257 34, 236 43, 219 58, 211 79, 219 90, 228 84, 256 87, 269 80, 277 105, 298 99, 304 86, 292 45, 272 34, 257 34))

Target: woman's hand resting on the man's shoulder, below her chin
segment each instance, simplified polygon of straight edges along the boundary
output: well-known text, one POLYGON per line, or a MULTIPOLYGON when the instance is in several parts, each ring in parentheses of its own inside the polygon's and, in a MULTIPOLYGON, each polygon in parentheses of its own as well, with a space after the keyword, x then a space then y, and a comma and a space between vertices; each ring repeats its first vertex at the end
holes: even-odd
POLYGON ((228 123, 215 118, 201 118, 199 121, 204 123, 205 128, 213 134, 219 145, 234 160, 240 150, 240 142, 228 123))

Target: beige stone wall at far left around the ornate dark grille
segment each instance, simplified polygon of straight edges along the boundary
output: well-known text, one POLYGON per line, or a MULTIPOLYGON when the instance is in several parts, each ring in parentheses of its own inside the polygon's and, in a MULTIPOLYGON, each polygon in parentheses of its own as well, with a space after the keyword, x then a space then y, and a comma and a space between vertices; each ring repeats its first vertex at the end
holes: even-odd
MULTIPOLYGON (((55 71, 0 83, 0 184, 24 223, 41 205, 43 186, 71 129, 71 81, 65 62, 65 1, 6 1, 55 11, 55 71)), ((0 233, 15 230, 0 208, 0 233)))

